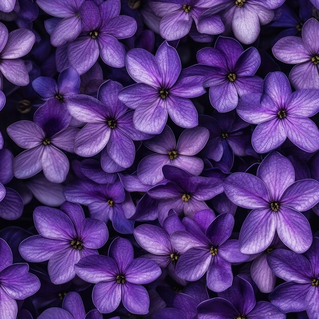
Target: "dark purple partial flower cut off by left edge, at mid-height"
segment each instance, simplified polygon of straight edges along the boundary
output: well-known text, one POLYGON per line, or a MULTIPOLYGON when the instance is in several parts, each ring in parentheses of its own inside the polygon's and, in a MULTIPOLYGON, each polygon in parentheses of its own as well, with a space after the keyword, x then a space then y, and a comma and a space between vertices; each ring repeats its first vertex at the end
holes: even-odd
POLYGON ((4 187, 13 178, 13 155, 8 149, 0 150, 0 217, 15 220, 22 215, 23 201, 12 188, 4 187))

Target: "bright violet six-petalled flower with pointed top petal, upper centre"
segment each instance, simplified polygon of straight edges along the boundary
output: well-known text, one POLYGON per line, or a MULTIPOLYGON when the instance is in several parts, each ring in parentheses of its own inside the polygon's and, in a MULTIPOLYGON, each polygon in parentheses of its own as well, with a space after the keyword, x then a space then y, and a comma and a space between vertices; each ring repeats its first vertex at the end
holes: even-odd
POLYGON ((198 124, 197 111, 188 97, 200 96, 205 90, 203 75, 198 75, 194 67, 181 71, 177 51, 167 42, 159 46, 155 57, 144 49, 127 52, 127 72, 138 83, 124 88, 119 99, 135 110, 133 122, 137 129, 159 134, 168 114, 181 127, 198 124))

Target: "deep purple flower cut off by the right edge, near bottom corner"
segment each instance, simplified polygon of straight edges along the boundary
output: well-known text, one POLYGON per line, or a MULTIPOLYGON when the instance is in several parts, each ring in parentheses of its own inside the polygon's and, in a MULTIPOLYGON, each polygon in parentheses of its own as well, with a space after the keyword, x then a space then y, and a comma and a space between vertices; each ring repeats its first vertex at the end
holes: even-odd
POLYGON ((319 238, 314 237, 303 255, 277 249, 267 257, 276 276, 287 281, 275 288, 269 299, 283 312, 307 310, 309 319, 319 313, 319 238))

